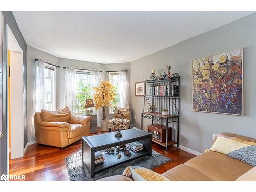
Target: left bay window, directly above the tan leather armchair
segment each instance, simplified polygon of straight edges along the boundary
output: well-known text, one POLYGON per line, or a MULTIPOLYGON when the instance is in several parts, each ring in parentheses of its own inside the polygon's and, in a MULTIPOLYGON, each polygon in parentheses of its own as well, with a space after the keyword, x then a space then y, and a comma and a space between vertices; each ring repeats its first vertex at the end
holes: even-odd
POLYGON ((55 110, 55 67, 45 65, 45 106, 55 110))

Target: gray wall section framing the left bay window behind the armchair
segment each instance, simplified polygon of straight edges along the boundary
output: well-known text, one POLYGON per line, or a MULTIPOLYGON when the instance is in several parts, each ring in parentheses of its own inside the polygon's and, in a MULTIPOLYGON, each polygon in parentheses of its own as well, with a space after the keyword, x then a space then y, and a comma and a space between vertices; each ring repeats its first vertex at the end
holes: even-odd
MULTIPOLYGON (((33 110, 33 93, 34 93, 34 80, 35 80, 35 58, 43 59, 47 62, 58 65, 58 57, 55 57, 44 51, 40 51, 33 47, 27 46, 27 117, 28 127, 31 127, 32 110, 33 110)), ((56 79, 58 79, 58 69, 56 70, 56 79)), ((58 86, 58 84, 56 84, 58 86)), ((56 87, 58 90, 58 87, 56 87)), ((56 98, 58 98, 58 91, 56 91, 56 98)), ((56 106, 57 107, 57 106, 56 106)), ((28 129, 29 131, 30 129, 28 129)), ((29 133, 28 133, 29 136, 29 133)))

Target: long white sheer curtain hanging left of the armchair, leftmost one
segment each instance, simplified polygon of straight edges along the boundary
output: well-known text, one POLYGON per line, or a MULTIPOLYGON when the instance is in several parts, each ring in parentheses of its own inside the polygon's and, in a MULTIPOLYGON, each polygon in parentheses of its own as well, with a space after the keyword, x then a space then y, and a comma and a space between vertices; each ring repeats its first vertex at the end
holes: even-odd
POLYGON ((28 142, 35 141, 34 115, 35 112, 40 112, 42 109, 45 109, 45 62, 38 60, 35 61, 32 124, 29 130, 28 142))

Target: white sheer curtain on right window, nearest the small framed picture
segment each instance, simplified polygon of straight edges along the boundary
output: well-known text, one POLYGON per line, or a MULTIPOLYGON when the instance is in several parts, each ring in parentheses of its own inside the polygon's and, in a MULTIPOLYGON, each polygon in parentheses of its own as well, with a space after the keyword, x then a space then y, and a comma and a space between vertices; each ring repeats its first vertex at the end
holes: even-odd
POLYGON ((126 76, 125 70, 119 71, 119 94, 120 94, 120 106, 125 108, 130 103, 130 89, 129 82, 126 76))

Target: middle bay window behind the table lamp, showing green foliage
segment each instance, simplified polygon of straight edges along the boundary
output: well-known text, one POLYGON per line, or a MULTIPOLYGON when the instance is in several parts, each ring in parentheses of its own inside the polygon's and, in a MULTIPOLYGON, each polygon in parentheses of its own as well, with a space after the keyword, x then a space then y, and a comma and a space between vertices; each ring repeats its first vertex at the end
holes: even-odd
POLYGON ((84 113, 84 101, 86 99, 91 99, 91 75, 88 72, 77 71, 76 78, 76 113, 82 114, 84 113))

